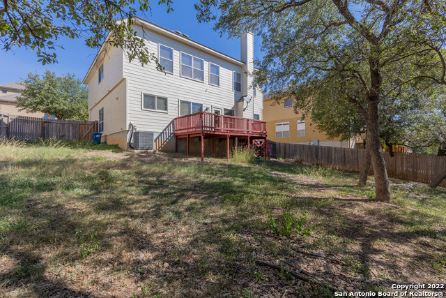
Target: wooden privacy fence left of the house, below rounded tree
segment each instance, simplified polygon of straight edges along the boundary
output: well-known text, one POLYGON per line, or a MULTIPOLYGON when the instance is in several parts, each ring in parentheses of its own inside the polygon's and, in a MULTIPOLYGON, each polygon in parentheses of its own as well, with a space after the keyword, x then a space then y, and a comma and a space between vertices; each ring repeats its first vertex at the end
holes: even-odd
POLYGON ((95 121, 53 120, 0 112, 0 137, 18 140, 93 140, 95 121))

